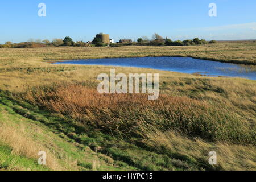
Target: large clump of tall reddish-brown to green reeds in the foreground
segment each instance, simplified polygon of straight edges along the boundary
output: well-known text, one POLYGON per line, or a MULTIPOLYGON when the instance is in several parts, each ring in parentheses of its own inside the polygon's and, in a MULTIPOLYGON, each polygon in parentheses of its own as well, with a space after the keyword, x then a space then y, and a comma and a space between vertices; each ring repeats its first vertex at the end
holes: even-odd
POLYGON ((213 142, 255 144, 255 133, 224 106, 161 94, 99 94, 82 85, 60 86, 27 95, 27 100, 83 123, 88 131, 120 137, 144 137, 147 131, 176 130, 213 142))

